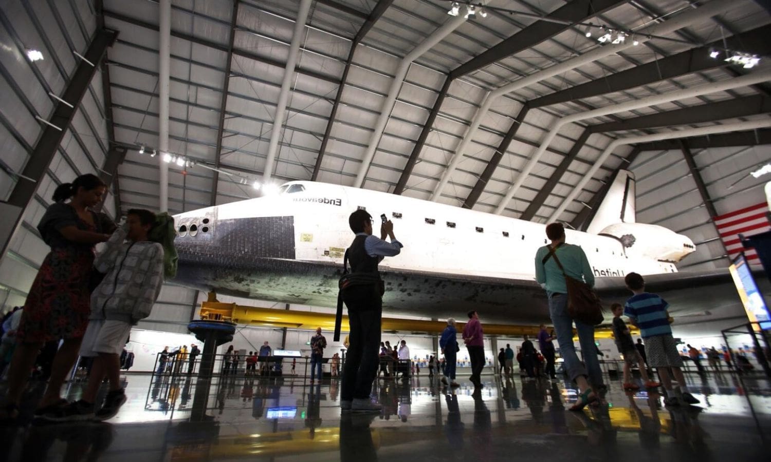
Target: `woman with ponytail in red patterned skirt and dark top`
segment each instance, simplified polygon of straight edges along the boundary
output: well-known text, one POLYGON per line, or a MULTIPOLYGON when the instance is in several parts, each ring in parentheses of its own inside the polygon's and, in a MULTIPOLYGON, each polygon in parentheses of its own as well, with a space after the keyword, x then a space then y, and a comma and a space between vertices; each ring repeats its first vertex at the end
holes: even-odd
POLYGON ((36 414, 65 405, 59 392, 78 357, 90 311, 89 276, 94 246, 116 229, 106 215, 89 210, 102 200, 106 185, 98 176, 79 176, 53 193, 38 231, 51 251, 40 266, 22 310, 17 346, 8 370, 6 417, 19 413, 19 399, 32 365, 45 342, 63 340, 36 414))

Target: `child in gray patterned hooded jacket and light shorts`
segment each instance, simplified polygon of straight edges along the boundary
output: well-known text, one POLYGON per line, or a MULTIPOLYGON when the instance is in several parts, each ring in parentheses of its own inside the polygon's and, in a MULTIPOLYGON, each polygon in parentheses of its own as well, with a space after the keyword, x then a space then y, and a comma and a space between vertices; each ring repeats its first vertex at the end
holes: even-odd
POLYGON ((131 326, 150 316, 163 285, 163 246, 147 240, 155 219, 149 210, 130 209, 126 223, 96 256, 94 266, 105 276, 91 293, 89 326, 80 347, 82 357, 94 357, 89 383, 80 400, 46 414, 45 419, 107 420, 126 402, 120 387, 120 353, 131 326), (109 380, 109 393, 95 412, 104 377, 109 380))

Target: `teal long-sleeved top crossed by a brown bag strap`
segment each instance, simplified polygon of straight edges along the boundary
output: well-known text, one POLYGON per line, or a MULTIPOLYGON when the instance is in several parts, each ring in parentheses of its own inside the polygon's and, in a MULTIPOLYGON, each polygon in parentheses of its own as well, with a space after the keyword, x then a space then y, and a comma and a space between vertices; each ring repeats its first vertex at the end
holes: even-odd
MULTIPOLYGON (((554 292, 567 293, 565 278, 562 276, 562 271, 557 266, 557 262, 554 261, 554 257, 548 259, 545 265, 541 263, 544 261, 544 256, 547 256, 548 253, 549 246, 543 246, 535 253, 535 280, 549 294, 554 292)), ((557 248, 556 254, 567 276, 582 280, 589 284, 589 286, 594 287, 594 273, 589 265, 589 260, 586 258, 584 249, 573 244, 562 244, 557 248)))

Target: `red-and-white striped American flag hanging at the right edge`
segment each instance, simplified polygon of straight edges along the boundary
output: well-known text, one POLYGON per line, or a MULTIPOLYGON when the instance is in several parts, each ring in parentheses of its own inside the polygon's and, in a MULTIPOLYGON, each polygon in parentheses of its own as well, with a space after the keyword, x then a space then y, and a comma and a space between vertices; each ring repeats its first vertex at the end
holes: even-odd
POLYGON ((760 265, 758 254, 755 249, 745 249, 739 242, 739 234, 752 236, 753 234, 763 233, 771 229, 766 213, 769 211, 767 203, 759 203, 755 206, 749 206, 736 212, 726 213, 725 215, 715 216, 715 226, 717 226, 720 239, 726 246, 726 251, 731 259, 739 255, 744 250, 747 257, 747 263, 751 266, 760 265))

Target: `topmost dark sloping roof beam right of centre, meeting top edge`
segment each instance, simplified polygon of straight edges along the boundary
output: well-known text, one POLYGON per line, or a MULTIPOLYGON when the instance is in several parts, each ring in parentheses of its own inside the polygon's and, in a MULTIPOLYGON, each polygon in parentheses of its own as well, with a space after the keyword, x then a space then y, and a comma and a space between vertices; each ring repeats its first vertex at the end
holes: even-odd
POLYGON ((611 8, 615 8, 618 5, 624 5, 625 3, 628 3, 628 0, 573 0, 573 2, 563 5, 561 8, 557 8, 554 12, 551 12, 546 16, 546 18, 565 21, 567 24, 544 20, 534 22, 520 32, 511 35, 508 39, 504 39, 503 42, 498 43, 493 46, 493 48, 483 52, 481 55, 456 67, 449 72, 449 77, 450 79, 463 77, 463 75, 482 69, 487 65, 493 64, 493 62, 500 61, 523 49, 544 42, 544 40, 550 39, 554 35, 571 28, 571 23, 584 22, 589 18, 601 15, 611 8))

